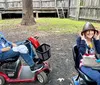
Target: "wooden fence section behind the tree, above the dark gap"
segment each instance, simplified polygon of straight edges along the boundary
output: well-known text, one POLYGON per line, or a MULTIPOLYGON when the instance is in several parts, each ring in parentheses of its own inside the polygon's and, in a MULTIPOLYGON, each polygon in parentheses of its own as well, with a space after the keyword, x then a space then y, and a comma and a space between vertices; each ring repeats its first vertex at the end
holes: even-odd
MULTIPOLYGON (((61 7, 63 1, 63 7, 68 7, 68 0, 33 0, 33 8, 55 8, 61 7)), ((22 0, 0 0, 0 9, 21 8, 22 0)))

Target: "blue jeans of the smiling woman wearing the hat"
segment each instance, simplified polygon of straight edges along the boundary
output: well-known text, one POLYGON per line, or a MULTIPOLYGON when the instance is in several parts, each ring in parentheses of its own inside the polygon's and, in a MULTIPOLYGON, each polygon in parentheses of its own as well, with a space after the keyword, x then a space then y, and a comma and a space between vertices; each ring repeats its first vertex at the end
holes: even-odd
POLYGON ((92 68, 82 66, 81 70, 89 76, 91 79, 97 82, 97 85, 100 85, 100 72, 93 70, 92 68))

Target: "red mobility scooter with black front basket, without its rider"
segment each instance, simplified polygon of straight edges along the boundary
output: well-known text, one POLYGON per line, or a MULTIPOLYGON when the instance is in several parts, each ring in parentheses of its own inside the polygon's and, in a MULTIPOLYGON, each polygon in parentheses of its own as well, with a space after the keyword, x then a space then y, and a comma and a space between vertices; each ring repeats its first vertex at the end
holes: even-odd
POLYGON ((21 42, 25 44, 31 54, 31 47, 35 48, 38 55, 37 59, 33 59, 37 64, 43 64, 43 68, 34 73, 31 72, 29 66, 23 65, 19 57, 0 61, 0 85, 5 83, 17 83, 17 82, 34 82, 38 80, 41 84, 45 84, 48 81, 48 74, 50 73, 50 65, 46 61, 51 57, 50 45, 42 44, 34 37, 29 37, 27 40, 21 42))

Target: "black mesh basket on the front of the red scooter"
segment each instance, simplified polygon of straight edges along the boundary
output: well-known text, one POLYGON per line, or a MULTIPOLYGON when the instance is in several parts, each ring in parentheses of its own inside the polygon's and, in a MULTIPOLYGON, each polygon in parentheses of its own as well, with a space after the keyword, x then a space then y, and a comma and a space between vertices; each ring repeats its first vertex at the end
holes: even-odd
POLYGON ((50 45, 48 44, 42 44, 36 49, 38 57, 45 61, 48 60, 51 57, 51 49, 50 45))

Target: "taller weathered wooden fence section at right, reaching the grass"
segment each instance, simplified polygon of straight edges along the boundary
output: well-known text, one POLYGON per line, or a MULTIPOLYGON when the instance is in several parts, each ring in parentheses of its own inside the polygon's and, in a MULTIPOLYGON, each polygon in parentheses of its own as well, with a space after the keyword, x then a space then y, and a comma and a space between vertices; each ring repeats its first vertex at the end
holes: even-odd
POLYGON ((70 0, 69 16, 100 21, 100 0, 70 0))

